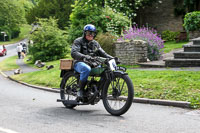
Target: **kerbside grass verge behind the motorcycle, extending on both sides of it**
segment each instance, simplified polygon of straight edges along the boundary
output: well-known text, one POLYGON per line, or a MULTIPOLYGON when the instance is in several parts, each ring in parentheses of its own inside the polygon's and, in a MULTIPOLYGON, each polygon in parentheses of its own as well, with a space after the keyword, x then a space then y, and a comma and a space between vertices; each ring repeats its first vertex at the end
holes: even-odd
MULTIPOLYGON (((13 75, 12 78, 29 84, 59 88, 59 60, 46 62, 53 69, 13 75)), ((191 102, 193 108, 200 108, 200 72, 199 71, 149 71, 128 69, 135 89, 135 97, 165 99, 191 102)))

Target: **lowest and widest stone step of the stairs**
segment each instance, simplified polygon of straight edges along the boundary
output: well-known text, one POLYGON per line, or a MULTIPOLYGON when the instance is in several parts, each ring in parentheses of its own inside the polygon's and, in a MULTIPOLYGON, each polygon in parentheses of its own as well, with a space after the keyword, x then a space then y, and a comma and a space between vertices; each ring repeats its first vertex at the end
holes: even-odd
POLYGON ((200 59, 167 59, 166 67, 200 67, 200 59))

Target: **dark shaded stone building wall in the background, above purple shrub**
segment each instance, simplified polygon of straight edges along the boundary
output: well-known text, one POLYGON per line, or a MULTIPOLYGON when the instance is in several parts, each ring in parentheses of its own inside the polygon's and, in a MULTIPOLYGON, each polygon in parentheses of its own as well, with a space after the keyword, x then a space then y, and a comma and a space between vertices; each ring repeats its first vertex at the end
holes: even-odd
POLYGON ((182 16, 174 15, 173 0, 161 0, 161 3, 140 10, 136 23, 153 27, 159 32, 183 31, 182 16))

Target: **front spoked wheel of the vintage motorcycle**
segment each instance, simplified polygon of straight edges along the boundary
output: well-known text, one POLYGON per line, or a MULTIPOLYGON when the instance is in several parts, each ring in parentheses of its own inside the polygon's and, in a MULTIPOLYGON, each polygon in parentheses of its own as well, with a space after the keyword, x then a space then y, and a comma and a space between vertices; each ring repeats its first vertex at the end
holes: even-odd
POLYGON ((103 89, 103 104, 112 115, 122 115, 128 111, 134 96, 134 88, 128 75, 115 74, 112 81, 107 81, 103 89))

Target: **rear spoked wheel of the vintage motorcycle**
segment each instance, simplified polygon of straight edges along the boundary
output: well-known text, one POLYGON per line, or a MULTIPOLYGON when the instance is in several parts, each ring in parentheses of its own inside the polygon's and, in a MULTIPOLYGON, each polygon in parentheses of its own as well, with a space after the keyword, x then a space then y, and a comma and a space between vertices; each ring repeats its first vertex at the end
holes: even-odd
POLYGON ((62 100, 62 103, 66 108, 74 108, 77 105, 69 104, 67 101, 76 101, 77 99, 77 87, 78 87, 78 78, 74 74, 73 71, 67 72, 66 75, 64 75, 62 81, 61 81, 61 90, 60 90, 60 97, 62 100))

